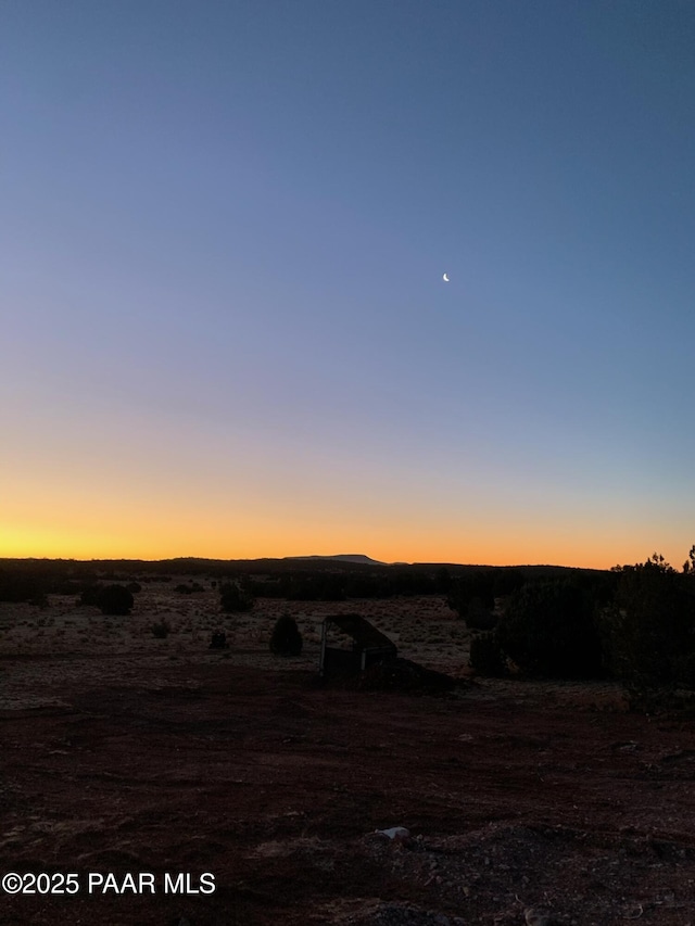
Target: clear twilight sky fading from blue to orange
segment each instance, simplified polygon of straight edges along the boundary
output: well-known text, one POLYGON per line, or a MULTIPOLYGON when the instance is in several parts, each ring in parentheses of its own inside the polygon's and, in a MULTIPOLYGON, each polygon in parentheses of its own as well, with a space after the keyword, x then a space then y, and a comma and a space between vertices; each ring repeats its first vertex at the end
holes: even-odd
POLYGON ((686 0, 3 0, 0 556, 680 567, 694 99, 686 0))

